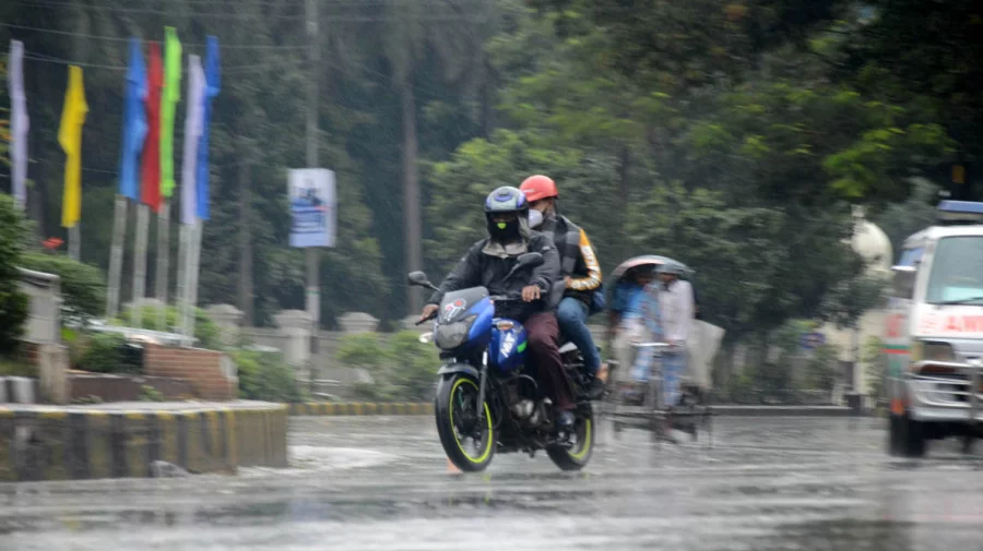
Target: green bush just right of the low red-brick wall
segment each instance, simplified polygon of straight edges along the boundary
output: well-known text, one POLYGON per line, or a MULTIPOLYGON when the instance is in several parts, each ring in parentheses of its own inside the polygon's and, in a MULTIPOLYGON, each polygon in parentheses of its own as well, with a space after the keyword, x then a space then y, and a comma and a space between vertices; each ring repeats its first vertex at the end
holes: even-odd
POLYGON ((264 402, 301 402, 294 370, 277 352, 235 350, 233 361, 239 373, 239 397, 264 402))

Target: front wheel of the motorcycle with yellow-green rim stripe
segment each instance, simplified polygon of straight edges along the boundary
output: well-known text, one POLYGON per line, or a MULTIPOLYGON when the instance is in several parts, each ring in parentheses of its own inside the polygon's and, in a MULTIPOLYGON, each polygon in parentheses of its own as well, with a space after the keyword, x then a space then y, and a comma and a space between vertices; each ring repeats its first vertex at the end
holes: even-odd
POLYGON ((495 424, 487 399, 477 415, 478 382, 455 373, 440 382, 434 414, 448 458, 465 472, 485 470, 495 455, 495 424))

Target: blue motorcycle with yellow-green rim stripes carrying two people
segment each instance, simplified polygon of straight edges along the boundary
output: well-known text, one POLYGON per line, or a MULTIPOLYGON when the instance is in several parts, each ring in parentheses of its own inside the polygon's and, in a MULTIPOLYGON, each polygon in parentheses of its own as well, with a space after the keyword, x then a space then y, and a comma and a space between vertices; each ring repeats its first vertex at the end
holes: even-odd
MULTIPOLYGON (((506 276, 542 265, 543 255, 519 256, 506 276)), ((423 272, 408 275, 410 285, 437 290, 423 272)), ((561 291, 561 288, 560 288, 561 291)), ((553 295, 556 295, 554 291, 553 295)), ((434 331, 421 336, 440 349, 443 364, 434 411, 437 432, 447 456, 462 471, 481 471, 496 453, 546 454, 562 470, 580 470, 594 446, 594 416, 577 347, 560 348, 564 369, 573 383, 577 408, 572 430, 555 422, 553 404, 543 397, 526 354, 528 333, 516 320, 496 316, 496 306, 521 302, 517 296, 489 296, 485 287, 445 295, 434 331)))

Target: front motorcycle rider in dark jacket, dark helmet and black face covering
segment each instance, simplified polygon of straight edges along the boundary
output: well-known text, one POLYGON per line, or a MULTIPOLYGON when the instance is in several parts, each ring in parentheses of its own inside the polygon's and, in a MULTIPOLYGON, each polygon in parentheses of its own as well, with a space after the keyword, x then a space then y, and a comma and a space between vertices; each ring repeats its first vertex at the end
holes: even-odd
MULTIPOLYGON (((547 300, 553 283, 559 278, 559 256, 553 240, 529 228, 529 202, 516 188, 502 187, 485 200, 488 238, 476 242, 448 274, 440 290, 434 292, 423 309, 421 320, 430 318, 446 292, 484 286, 488 292, 509 295, 520 290, 525 304, 509 312, 529 333, 529 349, 537 378, 545 386, 557 410, 557 423, 573 426, 573 390, 564 372, 559 354, 559 326, 548 309, 547 300), (543 254, 545 262, 532 272, 528 283, 506 282, 516 260, 526 252, 543 254)), ((505 306, 505 304, 504 304, 505 306)), ((496 315, 501 312, 496 308, 496 315)))

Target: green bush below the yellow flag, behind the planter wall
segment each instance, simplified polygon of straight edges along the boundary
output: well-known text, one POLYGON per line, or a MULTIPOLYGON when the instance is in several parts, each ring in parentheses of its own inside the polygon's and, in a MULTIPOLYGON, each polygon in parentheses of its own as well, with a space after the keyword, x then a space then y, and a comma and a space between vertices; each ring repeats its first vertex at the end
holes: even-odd
POLYGON ((63 254, 29 252, 21 256, 21 265, 27 269, 55 274, 61 278, 62 308, 66 314, 80 318, 97 318, 106 303, 106 280, 103 272, 63 254))

